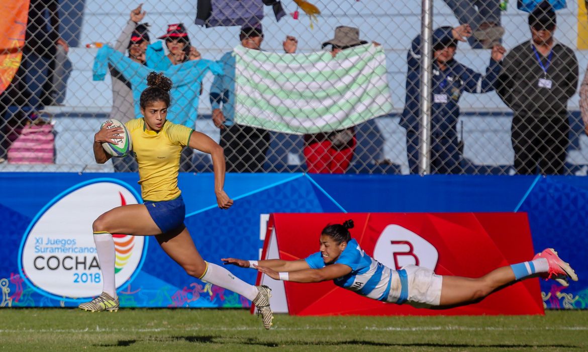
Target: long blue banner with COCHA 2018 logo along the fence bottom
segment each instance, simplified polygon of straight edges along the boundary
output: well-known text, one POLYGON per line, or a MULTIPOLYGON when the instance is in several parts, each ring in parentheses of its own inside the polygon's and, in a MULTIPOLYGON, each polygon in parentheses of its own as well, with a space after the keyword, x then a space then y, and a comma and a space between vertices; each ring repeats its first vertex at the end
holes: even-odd
MULTIPOLYGON (((98 295, 102 277, 92 223, 141 203, 137 174, 0 174, 1 307, 73 307, 98 295)), ((256 259, 271 212, 527 212, 535 251, 553 247, 580 281, 542 281, 544 305, 588 305, 588 201, 584 177, 480 175, 228 174, 235 200, 216 206, 212 174, 181 174, 185 224, 211 263, 256 259)), ((450 235, 450 234, 447 234, 450 235)), ((186 274, 155 238, 114 234, 123 307, 249 307, 238 294, 186 274)), ((309 253, 315 248, 309 248, 309 253)), ((475 263, 472 263, 475 265, 475 263)), ((256 271, 227 267, 253 284, 256 271)))

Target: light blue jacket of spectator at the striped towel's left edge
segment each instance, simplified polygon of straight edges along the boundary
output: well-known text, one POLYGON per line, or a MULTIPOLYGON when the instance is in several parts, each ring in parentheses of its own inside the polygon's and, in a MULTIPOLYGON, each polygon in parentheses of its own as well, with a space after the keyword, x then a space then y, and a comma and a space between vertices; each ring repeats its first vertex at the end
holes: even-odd
POLYGON ((226 52, 218 61, 223 65, 223 74, 216 75, 211 85, 212 109, 222 109, 225 126, 233 125, 235 119, 235 55, 226 52), (222 104, 222 107, 221 107, 222 104))

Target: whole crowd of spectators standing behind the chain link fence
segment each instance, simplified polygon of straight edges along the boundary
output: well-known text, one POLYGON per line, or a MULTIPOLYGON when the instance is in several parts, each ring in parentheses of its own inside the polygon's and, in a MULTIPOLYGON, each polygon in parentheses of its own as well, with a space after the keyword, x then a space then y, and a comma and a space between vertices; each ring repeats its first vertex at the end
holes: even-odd
MULTIPOLYGON (((517 174, 564 174, 569 146, 569 112, 567 102, 576 93, 579 81, 578 62, 573 49, 554 38, 557 28, 556 11, 549 1, 536 4, 528 16, 530 39, 506 53, 502 47, 505 29, 501 25, 499 0, 444 0, 460 22, 455 28, 441 26, 433 32, 432 111, 430 170, 438 174, 459 174, 462 168, 463 145, 457 133, 460 117, 459 99, 463 92, 484 94, 496 90, 512 110, 513 165, 517 174), (490 49, 486 72, 476 72, 455 59, 458 42, 468 42, 475 49, 490 49)), ((138 66, 121 72, 109 67, 112 76, 111 117, 122 122, 138 117, 133 99, 133 75, 141 75, 138 67, 165 71, 189 61, 200 61, 202 55, 189 39, 182 23, 170 24, 162 41, 151 43, 149 24, 142 22, 146 12, 142 6, 131 11, 126 26, 116 40, 114 50, 138 66), (165 42, 165 49, 162 45, 165 42), (133 71, 134 70, 134 71, 133 71)), ((245 22, 239 33, 240 44, 248 49, 262 50, 264 34, 259 23, 245 22)), ((359 28, 338 26, 335 36, 323 42, 333 57, 338 52, 367 44, 360 39, 359 28)), ((411 173, 419 172, 420 155, 420 35, 413 39, 407 52, 406 99, 400 125, 406 129, 406 151, 411 173)), ((379 45, 375 43, 375 45, 379 45)), ((298 40, 287 36, 285 53, 296 52, 298 40)), ((59 11, 56 0, 31 0, 26 26, 23 59, 12 83, 2 92, 0 111, 5 117, 9 106, 22 111, 38 111, 47 105, 64 101, 68 44, 59 36, 59 11), (41 77, 41 78, 39 78, 41 77)), ((263 128, 240 125, 235 116, 235 55, 226 52, 218 61, 222 72, 215 75, 209 89, 212 121, 219 129, 220 145, 225 149, 229 172, 262 172, 270 147, 270 132, 263 128)), ((213 70, 214 71, 214 70, 213 70)), ((139 77, 141 79, 141 77, 139 77)), ((588 76, 580 88, 582 118, 588 126, 588 76)), ((197 105, 202 87, 179 104, 179 111, 188 118, 182 123, 195 127, 197 105), (193 101, 196 100, 196 105, 193 101)), ((6 119, 3 118, 5 121, 6 119)), ((2 153, 7 140, 3 122, 2 153)), ((587 128, 588 133, 588 128, 587 128)), ((311 173, 344 173, 348 170, 358 144, 356 127, 304 135, 303 154, 306 170, 311 173)), ((0 155, 3 157, 4 155, 0 155)), ((196 171, 192 150, 182 152, 181 171, 196 171)), ((115 171, 136 171, 136 161, 129 155, 113 158, 115 171)))

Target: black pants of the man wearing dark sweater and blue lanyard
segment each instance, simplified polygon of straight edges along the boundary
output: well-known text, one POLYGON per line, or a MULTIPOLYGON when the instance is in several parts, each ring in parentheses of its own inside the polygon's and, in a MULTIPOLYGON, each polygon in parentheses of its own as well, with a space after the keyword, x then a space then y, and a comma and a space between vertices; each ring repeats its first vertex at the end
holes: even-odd
POLYGON ((536 118, 516 114, 511 132, 517 174, 564 174, 570 144, 567 115, 536 118))

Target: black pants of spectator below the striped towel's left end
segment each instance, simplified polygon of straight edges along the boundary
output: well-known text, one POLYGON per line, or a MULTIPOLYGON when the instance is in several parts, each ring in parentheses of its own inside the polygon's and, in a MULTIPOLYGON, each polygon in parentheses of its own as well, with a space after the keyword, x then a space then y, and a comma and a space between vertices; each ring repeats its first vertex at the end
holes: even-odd
POLYGON ((220 130, 227 172, 263 172, 270 142, 269 131, 233 124, 220 130))

